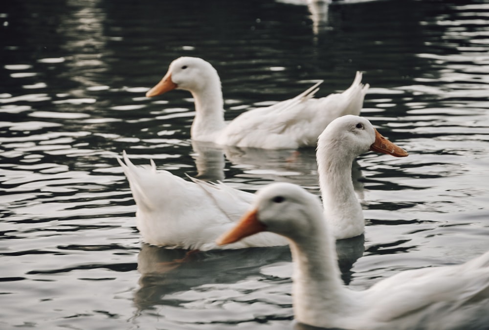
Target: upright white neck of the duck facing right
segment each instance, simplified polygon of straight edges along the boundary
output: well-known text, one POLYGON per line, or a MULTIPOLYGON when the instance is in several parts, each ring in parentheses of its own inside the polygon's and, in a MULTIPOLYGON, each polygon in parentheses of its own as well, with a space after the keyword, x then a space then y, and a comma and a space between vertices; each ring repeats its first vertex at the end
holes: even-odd
POLYGON ((341 149, 334 142, 320 146, 316 157, 324 216, 337 240, 361 235, 365 227, 352 181, 356 154, 346 150, 335 152, 341 149))

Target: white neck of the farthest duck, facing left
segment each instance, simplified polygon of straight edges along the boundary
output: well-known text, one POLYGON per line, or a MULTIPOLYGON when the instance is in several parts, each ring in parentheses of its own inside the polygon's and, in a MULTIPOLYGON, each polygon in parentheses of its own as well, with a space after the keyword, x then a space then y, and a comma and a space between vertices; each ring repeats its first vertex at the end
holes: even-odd
POLYGON ((190 136, 197 141, 214 142, 224 128, 224 108, 219 77, 208 79, 200 88, 191 90, 195 102, 195 118, 190 136))

